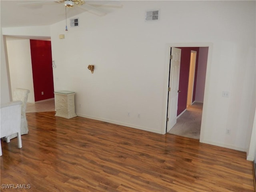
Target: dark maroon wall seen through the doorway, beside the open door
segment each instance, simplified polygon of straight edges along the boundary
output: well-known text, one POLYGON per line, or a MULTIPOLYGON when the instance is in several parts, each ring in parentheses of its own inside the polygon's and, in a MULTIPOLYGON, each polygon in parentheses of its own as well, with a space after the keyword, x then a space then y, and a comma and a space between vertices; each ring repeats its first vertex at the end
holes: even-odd
POLYGON ((180 60, 180 83, 179 90, 181 91, 178 96, 178 111, 177 116, 187 108, 187 97, 188 97, 188 77, 190 68, 190 55, 191 51, 196 51, 196 71, 194 79, 194 92, 193 102, 196 94, 196 76, 198 68, 198 55, 199 47, 177 47, 181 49, 181 60, 180 60))

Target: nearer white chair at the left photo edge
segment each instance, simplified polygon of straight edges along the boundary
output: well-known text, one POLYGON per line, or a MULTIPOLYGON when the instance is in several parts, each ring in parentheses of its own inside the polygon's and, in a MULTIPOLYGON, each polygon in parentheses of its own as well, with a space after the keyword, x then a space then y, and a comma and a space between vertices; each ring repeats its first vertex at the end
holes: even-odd
MULTIPOLYGON (((21 122, 21 101, 1 104, 0 138, 14 134, 18 136, 18 148, 22 148, 20 122, 21 122)), ((2 146, 0 142, 0 156, 2 156, 2 146)))

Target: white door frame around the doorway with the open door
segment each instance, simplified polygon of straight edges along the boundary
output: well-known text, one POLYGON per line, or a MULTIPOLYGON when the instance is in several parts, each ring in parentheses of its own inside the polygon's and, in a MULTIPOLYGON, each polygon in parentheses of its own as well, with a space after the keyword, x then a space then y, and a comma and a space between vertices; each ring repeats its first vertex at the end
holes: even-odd
POLYGON ((208 58, 207 58, 207 68, 206 68, 206 78, 205 78, 205 88, 204 88, 204 107, 202 111, 202 122, 200 131, 200 141, 204 140, 204 130, 205 130, 205 116, 207 114, 208 108, 208 97, 209 97, 209 82, 210 82, 210 68, 212 60, 212 43, 168 43, 166 44, 166 62, 164 66, 164 105, 163 105, 163 118, 162 118, 162 134, 166 134, 166 117, 167 117, 167 105, 168 105, 168 83, 169 83, 169 68, 170 68, 170 49, 171 47, 208 47, 208 58))

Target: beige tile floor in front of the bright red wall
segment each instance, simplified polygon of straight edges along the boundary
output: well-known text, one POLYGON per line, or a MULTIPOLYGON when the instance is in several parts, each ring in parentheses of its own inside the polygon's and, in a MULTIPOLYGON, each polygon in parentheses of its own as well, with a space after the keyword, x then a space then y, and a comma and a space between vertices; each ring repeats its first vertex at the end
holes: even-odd
POLYGON ((26 113, 35 113, 35 112, 46 112, 46 111, 55 111, 54 99, 39 102, 39 103, 27 103, 26 113))

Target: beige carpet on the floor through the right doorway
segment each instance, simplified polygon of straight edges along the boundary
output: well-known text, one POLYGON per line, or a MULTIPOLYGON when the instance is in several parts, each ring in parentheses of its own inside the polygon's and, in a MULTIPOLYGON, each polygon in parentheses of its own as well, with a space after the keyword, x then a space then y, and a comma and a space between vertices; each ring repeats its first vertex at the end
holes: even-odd
POLYGON ((199 139, 202 109, 202 103, 194 103, 193 105, 188 106, 186 112, 177 119, 177 123, 168 133, 199 139))

